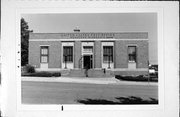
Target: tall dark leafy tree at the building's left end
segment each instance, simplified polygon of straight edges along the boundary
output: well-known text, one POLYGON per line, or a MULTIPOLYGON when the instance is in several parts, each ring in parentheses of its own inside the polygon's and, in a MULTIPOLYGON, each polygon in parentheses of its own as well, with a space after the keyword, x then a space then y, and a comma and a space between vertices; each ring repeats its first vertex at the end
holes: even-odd
POLYGON ((28 23, 21 18, 21 65, 28 64, 28 47, 29 47, 29 30, 28 23))

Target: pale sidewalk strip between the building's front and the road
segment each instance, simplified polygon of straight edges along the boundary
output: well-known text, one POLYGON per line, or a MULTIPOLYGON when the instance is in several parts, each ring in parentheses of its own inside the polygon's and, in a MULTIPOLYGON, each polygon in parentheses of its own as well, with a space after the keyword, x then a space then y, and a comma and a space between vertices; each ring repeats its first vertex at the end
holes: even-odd
POLYGON ((88 83, 88 84, 113 84, 113 85, 154 85, 158 86, 155 82, 135 82, 135 81, 122 81, 114 77, 111 78, 70 78, 70 77, 21 77, 22 81, 35 81, 35 82, 67 82, 67 83, 88 83))

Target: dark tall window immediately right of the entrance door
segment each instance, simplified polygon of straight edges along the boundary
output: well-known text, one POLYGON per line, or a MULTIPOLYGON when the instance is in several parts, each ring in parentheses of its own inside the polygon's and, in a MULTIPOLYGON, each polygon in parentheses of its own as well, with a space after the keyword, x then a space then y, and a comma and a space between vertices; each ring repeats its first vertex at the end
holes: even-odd
POLYGON ((103 62, 113 62, 113 46, 103 46, 103 62))

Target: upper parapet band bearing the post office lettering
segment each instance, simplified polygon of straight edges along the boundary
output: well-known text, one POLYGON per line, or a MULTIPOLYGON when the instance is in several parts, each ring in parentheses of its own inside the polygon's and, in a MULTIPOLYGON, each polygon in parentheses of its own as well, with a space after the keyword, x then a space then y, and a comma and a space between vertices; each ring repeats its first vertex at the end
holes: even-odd
POLYGON ((30 39, 148 39, 148 32, 30 33, 30 39))

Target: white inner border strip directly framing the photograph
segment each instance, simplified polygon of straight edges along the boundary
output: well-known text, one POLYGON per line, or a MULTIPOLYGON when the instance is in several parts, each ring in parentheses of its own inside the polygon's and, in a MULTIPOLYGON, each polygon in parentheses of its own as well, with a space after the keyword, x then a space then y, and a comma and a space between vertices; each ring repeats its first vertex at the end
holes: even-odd
MULTIPOLYGON (((35 11, 33 11, 34 9, 26 9, 26 8, 21 8, 17 10, 17 19, 16 22, 20 21, 20 17, 19 15, 21 14, 54 14, 54 13, 59 13, 59 14, 67 14, 67 13, 157 13, 157 31, 159 32, 157 34, 157 39, 158 39, 158 51, 159 53, 163 53, 163 50, 160 48, 163 48, 162 43, 163 42, 163 35, 161 32, 163 32, 163 29, 161 28, 161 22, 163 23, 163 19, 162 19, 162 14, 163 11, 160 8, 129 8, 129 9, 124 9, 124 8, 106 8, 106 7, 102 7, 102 8, 76 8, 76 7, 72 7, 72 8, 63 8, 61 10, 59 9, 53 9, 52 8, 41 8, 41 9, 36 9, 35 11), (72 11, 71 11, 72 10, 72 11), (33 12, 32 12, 33 11, 33 12), (40 11, 40 12, 39 12, 40 11), (87 12, 88 11, 88 12, 87 12), (91 11, 91 12, 89 12, 91 11), (48 12, 48 13, 47 13, 48 12)), ((20 23, 18 23, 18 26, 16 27, 16 30, 18 31, 17 34, 20 34, 19 32, 19 28, 20 28, 20 23)), ((17 38, 19 38, 20 40, 20 36, 18 35, 17 38)), ((17 40, 17 48, 19 51, 20 49, 20 41, 17 40)), ((158 55, 160 55, 158 53, 158 55)), ((19 56, 20 54, 17 54, 17 58, 20 58, 19 56)), ((161 58, 162 56, 158 56, 158 61, 163 61, 163 58, 161 58)), ((20 62, 19 59, 17 59, 17 66, 20 66, 20 62)), ((159 81, 158 81, 158 104, 156 105, 150 105, 150 104, 146 104, 146 105, 80 105, 80 104, 50 104, 50 105, 46 105, 46 104, 40 104, 40 105, 36 105, 34 104, 32 106, 32 104, 21 104, 21 100, 18 100, 18 105, 20 106, 20 109, 22 110, 59 110, 61 108, 61 106, 64 107, 65 110, 147 110, 147 109, 162 109, 163 108, 163 64, 159 64, 159 81), (55 106, 56 105, 56 106, 55 106), (32 108, 31 108, 32 106, 32 108)), ((17 78, 19 79, 17 82, 19 83, 21 81, 21 69, 17 68, 17 78)), ((18 87, 18 97, 17 99, 21 99, 21 82, 20 85, 18 87)))

